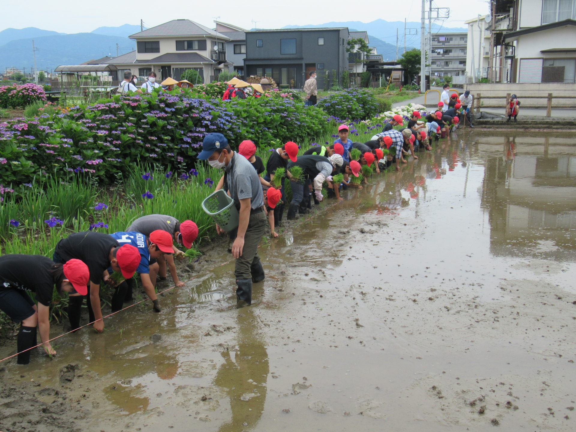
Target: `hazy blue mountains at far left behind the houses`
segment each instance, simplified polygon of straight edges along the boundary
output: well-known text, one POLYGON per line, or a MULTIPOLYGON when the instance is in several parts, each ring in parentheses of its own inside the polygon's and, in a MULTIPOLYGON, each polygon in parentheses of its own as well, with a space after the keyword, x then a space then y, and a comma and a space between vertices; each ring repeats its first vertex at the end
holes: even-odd
POLYGON ((98 27, 91 33, 58 33, 36 27, 8 28, 0 32, 0 73, 6 67, 25 68, 34 66, 32 39, 36 51, 36 66, 41 70, 54 69, 59 65, 78 65, 105 55, 126 54, 136 47, 128 36, 140 31, 139 25, 124 24, 119 27, 98 27))

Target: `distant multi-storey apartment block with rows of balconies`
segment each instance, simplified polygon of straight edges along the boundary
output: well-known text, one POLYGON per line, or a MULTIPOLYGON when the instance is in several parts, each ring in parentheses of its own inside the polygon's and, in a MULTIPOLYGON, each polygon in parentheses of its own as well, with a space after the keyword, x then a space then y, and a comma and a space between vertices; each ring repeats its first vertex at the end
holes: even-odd
POLYGON ((453 77, 466 71, 468 33, 444 33, 432 36, 430 75, 453 77))

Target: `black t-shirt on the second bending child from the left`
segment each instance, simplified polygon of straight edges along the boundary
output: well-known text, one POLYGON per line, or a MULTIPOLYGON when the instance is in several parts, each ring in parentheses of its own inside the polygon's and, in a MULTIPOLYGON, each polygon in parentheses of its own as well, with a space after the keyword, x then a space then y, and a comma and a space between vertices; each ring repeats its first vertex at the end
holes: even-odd
POLYGON ((82 231, 60 240, 54 252, 58 253, 64 262, 73 258, 84 262, 90 271, 90 282, 98 285, 104 270, 110 267, 110 249, 118 247, 119 242, 108 234, 82 231))

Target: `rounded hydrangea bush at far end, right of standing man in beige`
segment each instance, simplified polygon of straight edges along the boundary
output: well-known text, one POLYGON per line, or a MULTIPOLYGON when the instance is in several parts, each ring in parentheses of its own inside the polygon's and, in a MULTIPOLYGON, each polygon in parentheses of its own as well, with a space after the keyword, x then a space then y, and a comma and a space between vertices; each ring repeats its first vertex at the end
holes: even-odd
POLYGON ((366 120, 378 112, 378 101, 365 89, 348 89, 325 97, 317 106, 328 115, 348 120, 366 120))

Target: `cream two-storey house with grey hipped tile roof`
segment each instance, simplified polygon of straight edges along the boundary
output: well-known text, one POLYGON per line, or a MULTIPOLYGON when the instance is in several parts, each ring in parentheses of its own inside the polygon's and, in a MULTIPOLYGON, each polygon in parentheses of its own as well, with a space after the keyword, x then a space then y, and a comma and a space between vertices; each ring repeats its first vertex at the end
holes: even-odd
POLYGON ((138 77, 153 71, 158 80, 168 77, 179 80, 187 69, 194 69, 211 82, 223 70, 228 70, 226 43, 230 37, 191 20, 172 20, 129 36, 137 49, 106 60, 118 69, 118 79, 130 70, 138 77))

